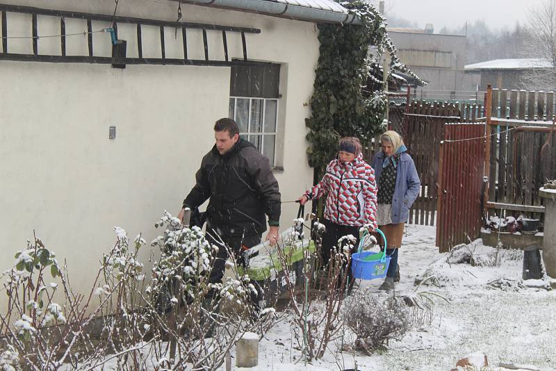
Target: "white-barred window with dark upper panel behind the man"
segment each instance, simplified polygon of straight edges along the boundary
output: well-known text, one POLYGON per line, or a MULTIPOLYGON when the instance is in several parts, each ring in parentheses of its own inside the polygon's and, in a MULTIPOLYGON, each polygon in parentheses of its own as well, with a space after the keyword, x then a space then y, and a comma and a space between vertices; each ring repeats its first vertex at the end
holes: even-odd
POLYGON ((240 138, 252 142, 275 165, 280 65, 261 63, 231 68, 229 117, 240 138))

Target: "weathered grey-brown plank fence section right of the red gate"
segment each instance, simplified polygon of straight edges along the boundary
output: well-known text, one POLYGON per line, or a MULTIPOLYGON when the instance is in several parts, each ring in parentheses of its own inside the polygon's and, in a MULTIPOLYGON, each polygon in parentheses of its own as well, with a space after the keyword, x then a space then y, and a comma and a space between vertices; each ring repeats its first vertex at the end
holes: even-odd
POLYGON ((553 92, 487 91, 489 214, 544 213, 539 188, 556 178, 555 94, 553 92), (505 117, 497 118, 505 113, 505 117))

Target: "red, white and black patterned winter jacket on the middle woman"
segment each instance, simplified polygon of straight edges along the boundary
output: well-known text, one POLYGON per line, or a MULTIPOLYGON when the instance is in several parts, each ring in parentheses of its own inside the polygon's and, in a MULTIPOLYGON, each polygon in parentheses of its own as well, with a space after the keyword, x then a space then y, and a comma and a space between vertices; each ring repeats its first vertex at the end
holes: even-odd
POLYGON ((325 219, 347 226, 370 224, 377 229, 377 186, 375 170, 359 155, 350 163, 330 161, 326 174, 305 192, 309 199, 328 194, 325 219))

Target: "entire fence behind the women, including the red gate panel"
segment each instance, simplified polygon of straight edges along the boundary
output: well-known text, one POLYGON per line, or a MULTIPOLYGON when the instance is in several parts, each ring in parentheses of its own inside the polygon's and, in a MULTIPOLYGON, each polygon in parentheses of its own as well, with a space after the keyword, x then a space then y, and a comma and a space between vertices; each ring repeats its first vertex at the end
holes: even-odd
MULTIPOLYGON (((489 88, 484 98, 484 106, 412 101, 402 127, 393 128, 421 180, 409 222, 438 224, 441 251, 478 237, 481 196, 490 213, 541 215, 538 190, 556 178, 555 94, 489 88)), ((377 148, 375 141, 370 152, 377 148)))

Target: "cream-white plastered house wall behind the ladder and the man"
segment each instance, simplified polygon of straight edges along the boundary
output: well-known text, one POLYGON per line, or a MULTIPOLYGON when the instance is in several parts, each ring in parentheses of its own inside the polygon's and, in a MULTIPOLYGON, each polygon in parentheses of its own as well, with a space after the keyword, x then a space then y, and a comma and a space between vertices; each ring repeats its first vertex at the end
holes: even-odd
MULTIPOLYGON (((114 2, 3 1, 16 5, 111 15, 114 2)), ((117 14, 175 21, 175 1, 120 0, 117 14)), ((229 10, 182 5, 183 22, 260 28, 246 34, 252 60, 281 63, 279 163, 282 199, 311 186, 306 106, 318 60, 316 26, 229 10)), ((107 27, 93 22, 93 30, 107 27)), ((39 35, 59 33, 59 19, 38 17, 39 35)), ((67 19, 66 32, 86 30, 67 19)), ((134 25, 120 24, 127 56, 136 56, 134 25)), ((8 13, 8 36, 31 35, 31 16, 8 13)), ((157 27, 143 26, 144 57, 160 57, 157 27)), ((181 35, 165 29, 167 58, 183 58, 181 35)), ((38 40, 39 53, 60 53, 60 39, 38 40)), ((68 36, 67 55, 87 55, 83 35, 68 36)), ((204 58, 200 31, 188 30, 189 58, 204 58), (195 35, 197 33, 197 35, 195 35)), ((221 33, 208 32, 211 59, 223 59, 221 33)), ((241 57, 239 34, 228 33, 231 57, 241 57)), ((10 39, 10 52, 32 53, 31 40, 10 39)), ((111 55, 109 35, 94 34, 95 55, 111 55)), ((131 238, 156 237, 163 209, 177 213, 193 186, 202 156, 213 145, 213 123, 228 116, 229 67, 24 63, 0 60, 0 269, 24 249, 33 231, 59 261, 67 259, 72 286, 90 288, 102 253, 115 242, 113 226, 131 238), (109 126, 116 138, 108 139, 109 126)), ((282 208, 282 226, 296 216, 282 208)), ((142 258, 147 263, 147 252, 142 258)), ((0 302, 5 302, 2 297, 0 302)))

